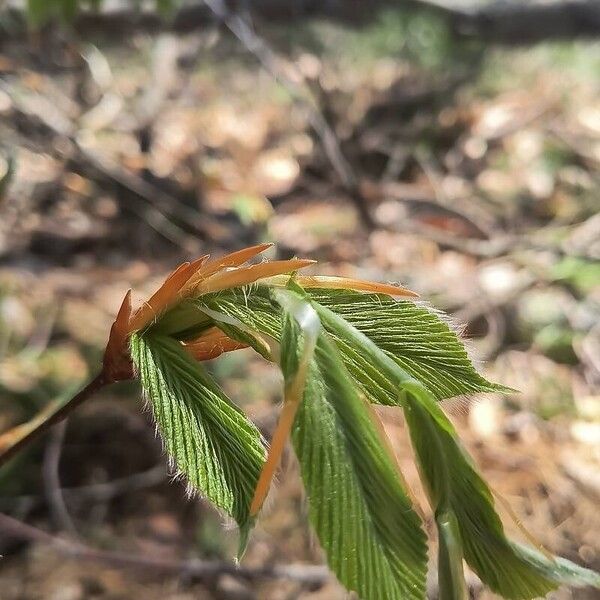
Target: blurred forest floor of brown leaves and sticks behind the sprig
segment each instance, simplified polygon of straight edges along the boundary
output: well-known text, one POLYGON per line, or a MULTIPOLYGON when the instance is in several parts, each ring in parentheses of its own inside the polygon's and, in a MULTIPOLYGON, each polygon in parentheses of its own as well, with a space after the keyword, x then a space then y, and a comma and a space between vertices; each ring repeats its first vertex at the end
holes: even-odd
MULTIPOLYGON (((95 374, 129 287, 269 240, 447 311, 520 390, 450 402, 465 444, 536 540, 599 569, 598 2, 77 5, 0 2, 0 432, 95 374)), ((209 368, 269 436, 277 373, 209 368)), ((141 408, 113 386, 0 470, 2 600, 346 597, 310 568, 291 453, 236 575, 141 408)))

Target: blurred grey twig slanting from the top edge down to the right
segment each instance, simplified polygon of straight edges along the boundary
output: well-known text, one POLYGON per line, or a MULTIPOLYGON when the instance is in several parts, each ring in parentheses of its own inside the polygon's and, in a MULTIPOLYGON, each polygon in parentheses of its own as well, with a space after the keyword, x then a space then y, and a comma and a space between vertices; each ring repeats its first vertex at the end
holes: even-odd
MULTIPOLYGON (((204 2, 244 47, 258 59, 271 77, 282 85, 292 98, 307 108, 308 120, 320 139, 323 151, 340 179, 344 190, 356 206, 363 224, 369 229, 374 229, 376 225, 367 207, 366 199, 360 190, 358 178, 344 156, 334 130, 323 116, 323 113, 318 110, 310 91, 282 72, 279 68, 282 59, 263 39, 258 37, 242 17, 231 12, 223 0, 204 0, 204 2)), ((291 65, 289 66, 291 67, 291 65)), ((297 69, 295 69, 295 75, 298 80, 302 80, 302 76, 297 69)))

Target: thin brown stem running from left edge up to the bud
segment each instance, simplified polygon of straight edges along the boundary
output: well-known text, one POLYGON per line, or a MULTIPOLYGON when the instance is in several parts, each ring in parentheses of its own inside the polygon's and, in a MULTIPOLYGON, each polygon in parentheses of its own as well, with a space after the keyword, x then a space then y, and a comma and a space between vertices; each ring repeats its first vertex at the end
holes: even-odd
POLYGON ((0 454, 0 467, 15 456, 25 446, 33 442, 40 435, 48 431, 52 425, 60 423, 80 404, 85 402, 90 396, 98 390, 108 385, 110 382, 107 379, 104 371, 101 371, 92 381, 90 381, 79 393, 71 400, 63 404, 60 408, 44 416, 43 420, 34 419, 33 423, 28 427, 28 424, 21 425, 14 430, 0 436, 0 448, 3 448, 0 454), (39 422, 38 422, 39 421, 39 422), (14 440, 11 439, 14 437, 14 440))

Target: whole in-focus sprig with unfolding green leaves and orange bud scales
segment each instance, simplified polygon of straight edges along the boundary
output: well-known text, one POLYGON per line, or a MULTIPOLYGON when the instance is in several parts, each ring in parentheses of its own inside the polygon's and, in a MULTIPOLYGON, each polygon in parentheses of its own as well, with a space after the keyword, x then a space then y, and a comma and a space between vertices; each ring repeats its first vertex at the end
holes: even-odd
POLYGON ((0 436, 0 464, 102 385, 137 377, 176 469, 238 523, 240 557, 291 437, 310 521, 339 581, 364 600, 421 599, 422 511, 373 411, 396 406, 438 530, 441 598, 467 597, 463 560, 506 598, 600 588, 600 575, 506 537, 439 401, 508 388, 475 371, 440 316, 403 288, 297 274, 313 261, 245 264, 267 247, 185 263, 135 312, 128 293, 101 374, 43 427, 38 419, 0 436), (246 347, 283 374, 270 446, 201 365, 246 347))

